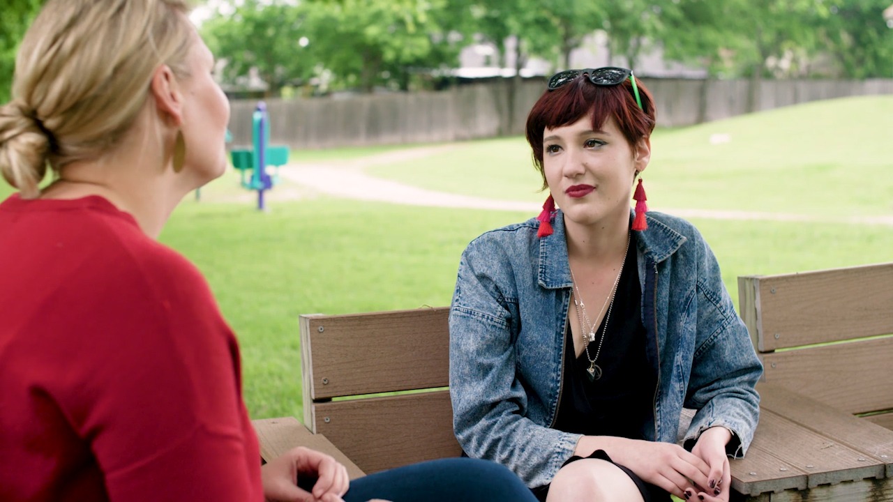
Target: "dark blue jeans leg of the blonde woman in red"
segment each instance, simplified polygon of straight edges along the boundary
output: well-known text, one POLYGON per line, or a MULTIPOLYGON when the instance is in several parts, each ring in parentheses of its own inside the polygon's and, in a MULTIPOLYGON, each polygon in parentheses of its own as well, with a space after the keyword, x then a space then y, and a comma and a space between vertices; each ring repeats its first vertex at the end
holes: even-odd
POLYGON ((505 466, 475 458, 443 458, 350 481, 345 502, 537 502, 505 466))

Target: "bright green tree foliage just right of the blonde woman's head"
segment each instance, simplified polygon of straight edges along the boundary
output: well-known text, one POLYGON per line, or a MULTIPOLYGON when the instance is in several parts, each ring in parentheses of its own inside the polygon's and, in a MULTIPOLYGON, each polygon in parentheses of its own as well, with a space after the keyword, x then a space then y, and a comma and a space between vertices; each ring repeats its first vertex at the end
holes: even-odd
POLYGON ((225 59, 230 83, 249 71, 270 86, 408 89, 413 77, 455 67, 461 46, 447 0, 246 0, 217 13, 203 35, 225 59))

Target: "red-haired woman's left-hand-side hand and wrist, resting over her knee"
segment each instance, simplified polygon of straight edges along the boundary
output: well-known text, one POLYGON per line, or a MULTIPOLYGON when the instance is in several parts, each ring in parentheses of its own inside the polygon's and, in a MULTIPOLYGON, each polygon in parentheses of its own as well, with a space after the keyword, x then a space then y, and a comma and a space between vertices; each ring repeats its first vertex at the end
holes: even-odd
POLYGON ((614 462, 676 497, 695 497, 697 487, 709 482, 710 466, 679 445, 626 438, 611 438, 604 445, 614 462))

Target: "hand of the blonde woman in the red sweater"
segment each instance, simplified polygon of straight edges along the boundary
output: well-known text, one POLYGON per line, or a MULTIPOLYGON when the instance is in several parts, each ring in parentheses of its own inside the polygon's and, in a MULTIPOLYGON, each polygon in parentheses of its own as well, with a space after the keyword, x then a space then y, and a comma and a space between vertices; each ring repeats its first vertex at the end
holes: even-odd
POLYGON ((324 453, 298 447, 261 467, 263 495, 276 502, 344 502, 350 479, 344 465, 324 453), (313 491, 297 486, 300 477, 316 478, 313 491))

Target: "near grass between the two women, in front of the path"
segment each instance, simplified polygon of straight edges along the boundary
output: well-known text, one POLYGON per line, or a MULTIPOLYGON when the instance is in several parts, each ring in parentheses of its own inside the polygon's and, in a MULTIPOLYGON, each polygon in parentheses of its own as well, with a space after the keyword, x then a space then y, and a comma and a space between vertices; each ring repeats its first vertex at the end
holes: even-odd
POLYGON ((188 204, 162 240, 205 273, 237 332, 252 416, 300 417, 299 314, 448 305, 468 241, 525 216, 338 199, 269 213, 188 204))

